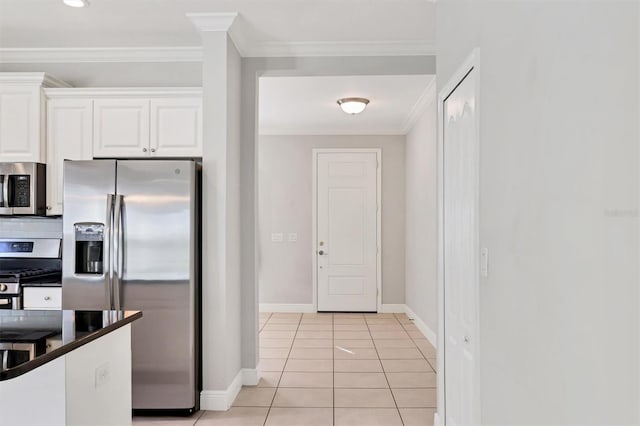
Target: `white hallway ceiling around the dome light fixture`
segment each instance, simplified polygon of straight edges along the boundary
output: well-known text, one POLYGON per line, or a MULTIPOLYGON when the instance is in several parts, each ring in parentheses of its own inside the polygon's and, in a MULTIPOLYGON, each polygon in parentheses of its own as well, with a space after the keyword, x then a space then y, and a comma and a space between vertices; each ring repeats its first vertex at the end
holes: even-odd
POLYGON ((433 75, 263 77, 260 134, 406 134, 421 105, 435 98, 433 81, 433 75), (336 101, 351 96, 371 102, 361 114, 345 114, 336 101))

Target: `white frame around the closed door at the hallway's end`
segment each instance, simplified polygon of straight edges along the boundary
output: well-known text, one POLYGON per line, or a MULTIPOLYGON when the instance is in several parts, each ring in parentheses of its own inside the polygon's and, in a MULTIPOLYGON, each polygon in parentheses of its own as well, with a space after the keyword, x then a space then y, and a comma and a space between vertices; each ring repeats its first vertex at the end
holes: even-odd
POLYGON ((363 154, 375 153, 378 167, 376 169, 376 310, 381 312, 382 306, 382 149, 381 148, 313 148, 312 149, 312 174, 313 188, 311 190, 311 253, 313 275, 313 310, 318 312, 318 154, 363 154))

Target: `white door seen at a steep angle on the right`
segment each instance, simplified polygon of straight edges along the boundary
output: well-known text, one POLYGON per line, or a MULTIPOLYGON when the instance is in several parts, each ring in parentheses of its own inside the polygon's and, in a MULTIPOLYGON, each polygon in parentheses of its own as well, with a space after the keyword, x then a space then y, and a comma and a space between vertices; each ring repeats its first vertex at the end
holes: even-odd
POLYGON ((476 74, 471 69, 442 105, 447 426, 479 424, 476 374, 479 282, 476 74))

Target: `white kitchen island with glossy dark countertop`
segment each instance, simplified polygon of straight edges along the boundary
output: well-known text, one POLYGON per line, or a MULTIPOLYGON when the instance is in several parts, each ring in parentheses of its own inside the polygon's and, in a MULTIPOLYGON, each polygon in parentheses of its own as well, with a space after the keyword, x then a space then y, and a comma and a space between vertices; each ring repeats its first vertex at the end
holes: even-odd
POLYGON ((0 310, 0 426, 131 423, 139 311, 0 310))

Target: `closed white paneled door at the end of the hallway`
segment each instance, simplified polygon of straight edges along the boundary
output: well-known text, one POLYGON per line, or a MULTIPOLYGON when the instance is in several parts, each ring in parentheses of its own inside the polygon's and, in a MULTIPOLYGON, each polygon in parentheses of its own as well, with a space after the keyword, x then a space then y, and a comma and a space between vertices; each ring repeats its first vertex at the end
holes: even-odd
POLYGON ((378 304, 378 153, 316 157, 319 311, 375 312, 378 304))

